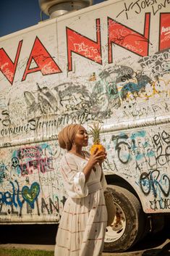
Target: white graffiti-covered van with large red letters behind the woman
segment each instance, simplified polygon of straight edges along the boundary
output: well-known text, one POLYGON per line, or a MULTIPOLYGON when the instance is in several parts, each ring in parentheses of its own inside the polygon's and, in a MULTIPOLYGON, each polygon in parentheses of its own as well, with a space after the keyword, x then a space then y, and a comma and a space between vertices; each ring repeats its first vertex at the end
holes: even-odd
POLYGON ((109 0, 0 38, 1 223, 59 223, 67 195, 57 134, 68 123, 98 121, 116 204, 105 249, 124 251, 163 227, 169 4, 109 0))

